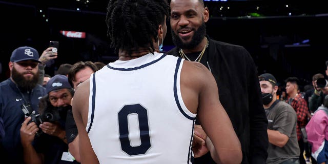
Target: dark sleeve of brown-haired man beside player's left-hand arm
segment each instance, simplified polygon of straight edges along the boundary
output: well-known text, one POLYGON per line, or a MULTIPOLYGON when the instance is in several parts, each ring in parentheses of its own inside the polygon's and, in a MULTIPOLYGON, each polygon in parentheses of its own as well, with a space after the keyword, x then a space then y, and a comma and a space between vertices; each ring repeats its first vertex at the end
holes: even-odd
POLYGON ((67 111, 67 117, 66 117, 66 138, 67 138, 67 144, 71 143, 76 135, 77 135, 77 127, 74 121, 73 112, 72 109, 67 111))

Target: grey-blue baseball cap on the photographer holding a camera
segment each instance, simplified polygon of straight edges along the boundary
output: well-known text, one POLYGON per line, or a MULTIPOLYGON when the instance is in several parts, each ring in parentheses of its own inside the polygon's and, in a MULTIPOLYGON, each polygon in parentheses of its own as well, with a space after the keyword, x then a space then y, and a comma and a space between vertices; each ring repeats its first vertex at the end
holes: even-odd
POLYGON ((46 85, 46 91, 47 93, 58 90, 58 89, 63 89, 63 88, 73 88, 69 83, 68 83, 68 78, 65 75, 54 75, 51 77, 46 85))

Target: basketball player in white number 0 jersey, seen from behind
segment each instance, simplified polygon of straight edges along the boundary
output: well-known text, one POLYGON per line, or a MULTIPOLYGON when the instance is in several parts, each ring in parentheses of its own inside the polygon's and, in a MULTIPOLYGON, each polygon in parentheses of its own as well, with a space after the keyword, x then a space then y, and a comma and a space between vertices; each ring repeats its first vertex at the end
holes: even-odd
POLYGON ((211 72, 159 53, 168 10, 166 0, 109 2, 108 35, 119 58, 74 95, 81 163, 192 163, 196 114, 214 160, 241 162, 211 72))

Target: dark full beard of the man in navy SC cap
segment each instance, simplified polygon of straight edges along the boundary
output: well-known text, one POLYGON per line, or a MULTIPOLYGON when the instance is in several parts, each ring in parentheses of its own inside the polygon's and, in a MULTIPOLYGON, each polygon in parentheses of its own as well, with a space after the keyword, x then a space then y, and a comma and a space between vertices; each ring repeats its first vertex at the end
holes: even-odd
POLYGON ((19 73, 15 67, 12 68, 11 78, 15 81, 19 89, 23 91, 31 91, 38 82, 39 71, 33 73, 32 71, 25 71, 24 73, 19 73), (24 77, 24 74, 31 73, 33 74, 32 78, 24 77))

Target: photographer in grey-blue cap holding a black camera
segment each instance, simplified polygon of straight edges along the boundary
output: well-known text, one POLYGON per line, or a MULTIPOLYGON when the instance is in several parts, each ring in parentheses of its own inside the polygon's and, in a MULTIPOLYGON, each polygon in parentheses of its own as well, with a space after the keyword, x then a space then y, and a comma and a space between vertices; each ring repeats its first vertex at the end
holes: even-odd
POLYGON ((74 163, 68 152, 65 131, 67 110, 72 108, 70 103, 74 90, 65 75, 53 76, 46 90, 48 95, 40 99, 40 116, 32 122, 33 117, 28 117, 20 129, 24 161, 33 164, 74 163))

